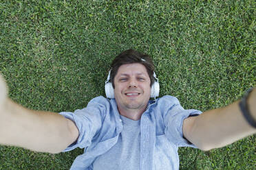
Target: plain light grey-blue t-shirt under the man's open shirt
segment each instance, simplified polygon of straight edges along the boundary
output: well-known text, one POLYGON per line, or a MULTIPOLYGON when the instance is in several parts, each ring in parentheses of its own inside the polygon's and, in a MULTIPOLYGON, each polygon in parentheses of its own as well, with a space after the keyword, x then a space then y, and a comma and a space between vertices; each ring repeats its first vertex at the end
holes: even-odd
POLYGON ((118 142, 93 163, 94 170, 126 169, 140 167, 140 120, 134 121, 120 116, 123 129, 118 142))

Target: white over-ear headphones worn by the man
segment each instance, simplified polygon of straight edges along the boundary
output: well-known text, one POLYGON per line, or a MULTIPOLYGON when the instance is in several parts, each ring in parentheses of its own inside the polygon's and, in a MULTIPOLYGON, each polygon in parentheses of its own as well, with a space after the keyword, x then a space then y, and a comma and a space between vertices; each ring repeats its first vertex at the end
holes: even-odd
MULTIPOLYGON (((105 81, 105 93, 106 93, 107 98, 114 99, 115 98, 114 88, 112 86, 112 83, 109 82, 110 73, 111 73, 111 70, 109 71, 109 75, 107 75, 107 80, 105 81)), ((153 77, 155 78, 155 81, 153 82, 153 84, 151 86, 151 95, 150 95, 150 97, 156 98, 159 95, 160 86, 159 86, 158 78, 156 77, 155 72, 153 72, 153 77)))

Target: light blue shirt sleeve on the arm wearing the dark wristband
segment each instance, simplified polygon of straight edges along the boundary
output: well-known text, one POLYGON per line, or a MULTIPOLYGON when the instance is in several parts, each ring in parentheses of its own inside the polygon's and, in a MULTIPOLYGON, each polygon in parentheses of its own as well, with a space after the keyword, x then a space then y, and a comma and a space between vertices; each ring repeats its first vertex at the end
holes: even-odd
POLYGON ((195 147, 195 145, 184 138, 182 126, 184 119, 191 116, 198 116, 202 112, 194 109, 184 110, 175 97, 171 97, 167 106, 168 109, 164 115, 164 134, 171 143, 174 143, 178 147, 195 147))

